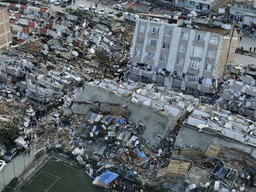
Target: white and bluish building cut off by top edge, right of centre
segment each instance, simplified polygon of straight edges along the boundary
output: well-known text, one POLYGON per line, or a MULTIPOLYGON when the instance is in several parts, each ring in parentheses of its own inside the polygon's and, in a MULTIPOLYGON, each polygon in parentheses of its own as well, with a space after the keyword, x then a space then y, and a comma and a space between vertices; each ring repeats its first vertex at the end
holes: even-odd
POLYGON ((174 0, 174 3, 198 12, 209 12, 214 1, 216 0, 174 0))

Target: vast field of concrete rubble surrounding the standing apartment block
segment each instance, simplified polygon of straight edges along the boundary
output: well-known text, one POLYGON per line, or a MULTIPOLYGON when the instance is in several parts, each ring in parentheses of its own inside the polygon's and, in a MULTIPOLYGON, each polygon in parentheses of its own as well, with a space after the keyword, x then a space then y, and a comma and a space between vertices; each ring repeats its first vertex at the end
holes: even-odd
MULTIPOLYGON (((0 5, 19 8, 10 12, 13 45, 0 55, 0 121, 16 123, 19 137, 12 142, 19 149, 33 145, 36 154, 70 157, 109 191, 255 190, 256 75, 250 67, 223 79, 200 78, 204 94, 197 92, 201 86, 193 91, 179 84, 182 74, 171 74, 173 87, 176 82, 183 90, 177 91, 164 87, 167 70, 152 74, 140 63, 131 66, 132 24, 0 5), (157 79, 131 81, 131 72, 157 79)), ((168 13, 165 19, 182 18, 168 13)), ((5 150, 1 144, 0 154, 5 150)))

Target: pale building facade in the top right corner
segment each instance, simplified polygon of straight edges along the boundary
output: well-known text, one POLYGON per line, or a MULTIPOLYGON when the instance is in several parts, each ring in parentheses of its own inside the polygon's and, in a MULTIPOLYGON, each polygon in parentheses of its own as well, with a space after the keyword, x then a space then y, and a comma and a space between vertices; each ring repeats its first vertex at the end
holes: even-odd
POLYGON ((256 0, 230 2, 230 20, 238 24, 251 26, 256 23, 256 0))

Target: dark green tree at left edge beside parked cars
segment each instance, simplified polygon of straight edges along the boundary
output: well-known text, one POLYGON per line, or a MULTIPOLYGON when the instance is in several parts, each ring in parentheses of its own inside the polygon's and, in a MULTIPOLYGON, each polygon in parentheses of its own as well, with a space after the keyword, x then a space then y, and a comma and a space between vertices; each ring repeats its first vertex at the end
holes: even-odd
POLYGON ((18 123, 15 121, 2 123, 0 125, 0 143, 7 149, 11 148, 14 140, 19 137, 19 132, 18 123))

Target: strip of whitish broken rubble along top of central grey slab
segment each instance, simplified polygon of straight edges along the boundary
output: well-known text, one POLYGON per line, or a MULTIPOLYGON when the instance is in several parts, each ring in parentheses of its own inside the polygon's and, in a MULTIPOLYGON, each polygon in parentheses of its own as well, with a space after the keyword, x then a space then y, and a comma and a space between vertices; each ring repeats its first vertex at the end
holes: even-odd
POLYGON ((135 81, 121 84, 119 80, 104 79, 89 82, 88 85, 101 87, 134 103, 150 106, 150 108, 161 111, 172 118, 184 116, 186 111, 192 111, 194 106, 199 103, 199 99, 191 95, 177 93, 167 87, 160 87, 155 84, 141 84, 135 81))

